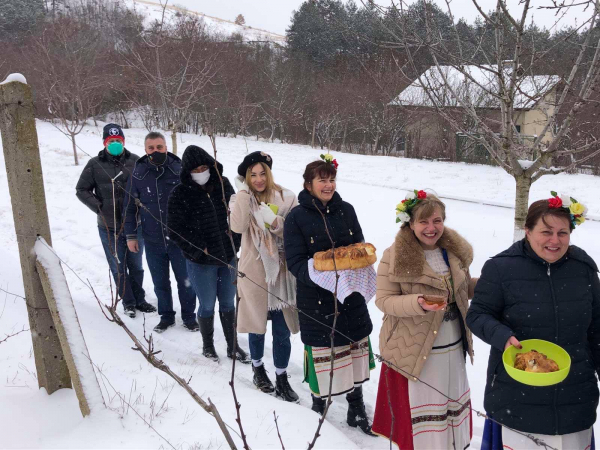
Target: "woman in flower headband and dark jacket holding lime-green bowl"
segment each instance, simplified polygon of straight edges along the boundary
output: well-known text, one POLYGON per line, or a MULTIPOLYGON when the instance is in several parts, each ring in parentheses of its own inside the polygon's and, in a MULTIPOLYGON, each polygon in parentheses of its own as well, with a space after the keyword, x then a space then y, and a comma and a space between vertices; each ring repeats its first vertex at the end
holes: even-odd
MULTIPOLYGON (((535 434, 556 448, 589 448, 598 407, 600 370, 600 281, 598 267, 582 249, 569 245, 585 208, 569 197, 533 203, 526 237, 483 266, 467 325, 491 345, 485 409, 497 422, 535 434), (572 203, 572 204, 571 204, 572 203), (571 356, 562 383, 521 384, 502 363, 505 348, 524 339, 560 345, 571 356)), ((511 448, 538 448, 530 439, 486 423, 484 446, 500 438, 511 448)))

